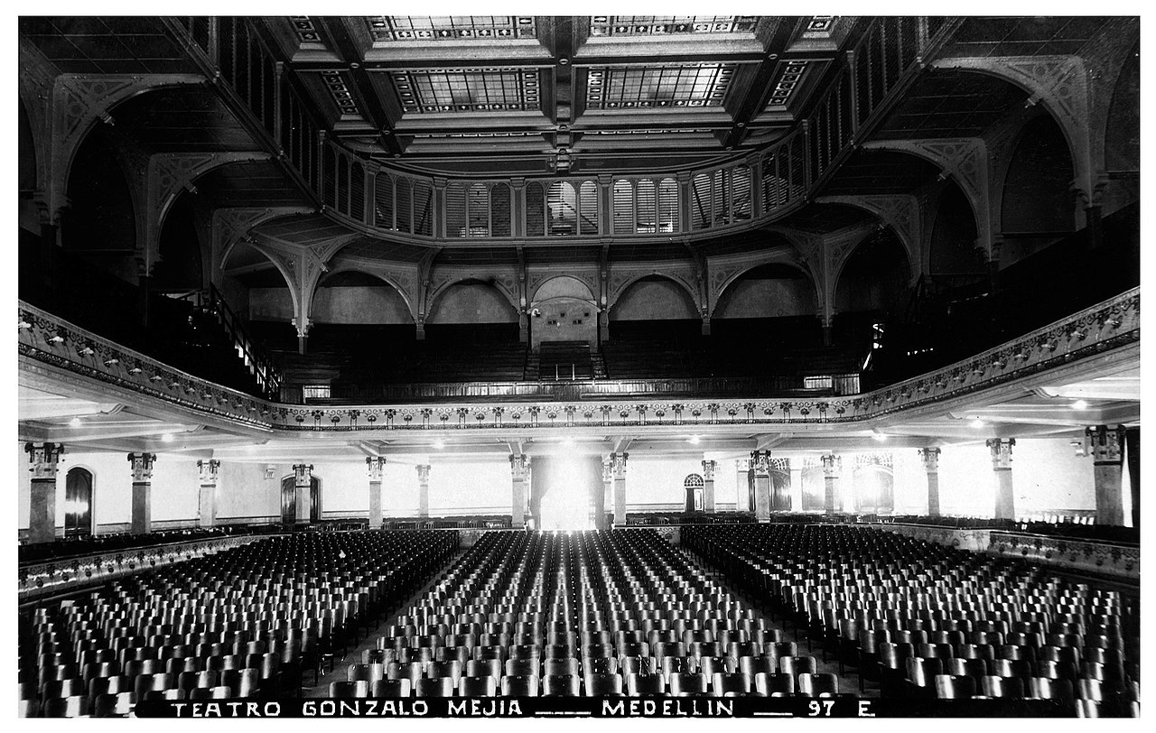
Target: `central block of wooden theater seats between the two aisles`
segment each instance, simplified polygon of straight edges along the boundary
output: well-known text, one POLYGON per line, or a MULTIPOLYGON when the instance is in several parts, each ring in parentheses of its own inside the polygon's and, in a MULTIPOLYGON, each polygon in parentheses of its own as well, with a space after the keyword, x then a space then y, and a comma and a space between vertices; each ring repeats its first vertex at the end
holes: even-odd
POLYGON ((653 530, 488 533, 334 697, 838 694, 653 530))

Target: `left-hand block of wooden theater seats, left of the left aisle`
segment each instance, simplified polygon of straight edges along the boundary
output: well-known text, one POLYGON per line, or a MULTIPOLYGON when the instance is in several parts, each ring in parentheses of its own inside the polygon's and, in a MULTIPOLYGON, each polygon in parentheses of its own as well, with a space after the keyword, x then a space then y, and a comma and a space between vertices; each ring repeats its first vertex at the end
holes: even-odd
POLYGON ((124 716, 149 698, 283 697, 458 550, 457 532, 258 540, 20 616, 20 712, 124 716))

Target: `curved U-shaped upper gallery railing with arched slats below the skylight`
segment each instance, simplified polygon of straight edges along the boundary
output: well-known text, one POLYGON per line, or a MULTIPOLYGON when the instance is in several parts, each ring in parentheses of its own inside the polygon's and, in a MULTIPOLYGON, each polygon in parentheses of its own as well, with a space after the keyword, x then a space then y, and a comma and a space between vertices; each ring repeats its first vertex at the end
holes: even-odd
POLYGON ((873 18, 798 126, 724 164, 652 175, 433 177, 364 161, 328 139, 291 69, 249 18, 180 18, 184 32, 265 129, 326 214, 413 242, 627 237, 697 239, 775 221, 850 155, 946 36, 942 18, 873 18))

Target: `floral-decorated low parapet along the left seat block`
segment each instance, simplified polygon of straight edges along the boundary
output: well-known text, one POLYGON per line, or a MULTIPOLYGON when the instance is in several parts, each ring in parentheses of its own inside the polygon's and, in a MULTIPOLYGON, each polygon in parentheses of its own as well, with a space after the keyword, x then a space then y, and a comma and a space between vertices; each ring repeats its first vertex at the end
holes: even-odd
POLYGON ((60 593, 92 583, 120 578, 157 565, 213 555, 221 550, 249 545, 265 536, 230 536, 221 539, 177 542, 157 547, 128 547, 99 555, 54 560, 18 570, 17 593, 20 601, 50 593, 60 593))

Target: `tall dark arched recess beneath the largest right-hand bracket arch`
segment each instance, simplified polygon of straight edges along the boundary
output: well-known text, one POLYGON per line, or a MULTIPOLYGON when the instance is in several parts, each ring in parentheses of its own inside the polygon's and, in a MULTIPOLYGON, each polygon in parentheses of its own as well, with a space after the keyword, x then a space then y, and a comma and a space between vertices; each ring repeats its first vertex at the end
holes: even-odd
POLYGON ((1047 114, 1020 128, 1000 182, 1000 231, 1068 232, 1075 227, 1075 175, 1064 131, 1047 114))

